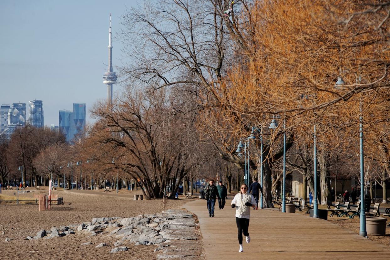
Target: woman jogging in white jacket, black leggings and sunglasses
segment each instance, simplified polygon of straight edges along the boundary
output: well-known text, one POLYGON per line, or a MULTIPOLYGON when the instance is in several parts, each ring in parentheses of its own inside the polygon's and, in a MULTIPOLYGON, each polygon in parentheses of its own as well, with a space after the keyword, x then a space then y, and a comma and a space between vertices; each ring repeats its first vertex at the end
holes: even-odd
POLYGON ((247 243, 250 242, 248 233, 250 207, 256 206, 256 200, 253 195, 248 193, 248 186, 243 183, 240 188, 240 192, 234 196, 232 200, 232 208, 236 208, 236 224, 238 229, 238 244, 240 248, 239 253, 244 251, 243 248, 243 234, 247 243))

